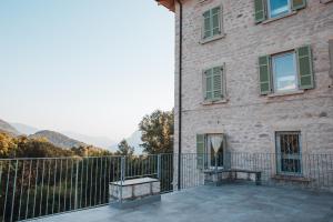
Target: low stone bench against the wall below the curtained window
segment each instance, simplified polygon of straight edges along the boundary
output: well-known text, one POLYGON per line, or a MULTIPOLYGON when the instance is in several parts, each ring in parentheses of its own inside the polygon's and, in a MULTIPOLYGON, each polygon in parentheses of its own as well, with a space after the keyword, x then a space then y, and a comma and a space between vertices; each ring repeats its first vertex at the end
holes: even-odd
POLYGON ((222 183, 222 180, 235 181, 239 179, 239 173, 246 175, 246 180, 251 180, 251 175, 254 175, 256 185, 261 185, 261 171, 245 170, 245 169, 211 169, 205 170, 205 181, 214 182, 216 184, 222 183), (226 176, 225 176, 226 174, 226 176))

